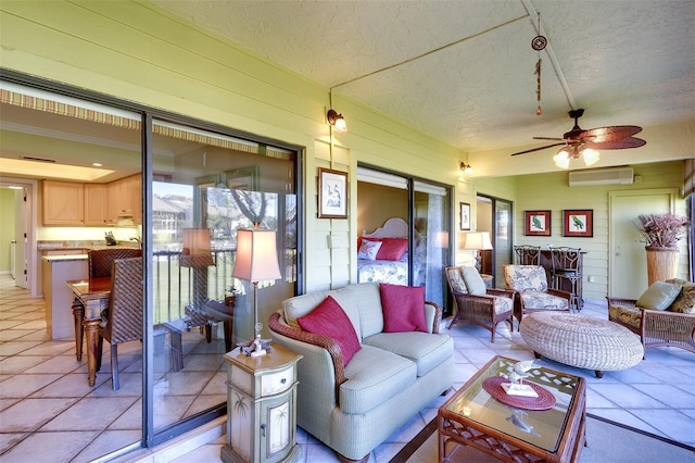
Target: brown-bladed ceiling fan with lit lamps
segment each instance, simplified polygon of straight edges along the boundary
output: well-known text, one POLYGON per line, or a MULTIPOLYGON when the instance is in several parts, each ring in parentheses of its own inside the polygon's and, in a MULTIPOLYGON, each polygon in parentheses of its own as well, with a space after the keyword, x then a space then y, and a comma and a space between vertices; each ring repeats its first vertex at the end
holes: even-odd
POLYGON ((645 140, 633 137, 633 135, 642 132, 642 127, 637 127, 636 125, 612 125, 584 130, 579 127, 579 118, 583 114, 584 110, 582 109, 569 112, 569 116, 574 120, 574 126, 571 130, 566 132, 563 138, 533 137, 534 140, 556 140, 556 143, 519 151, 511 155, 526 154, 546 148, 563 146, 564 148, 553 157, 553 161, 555 161, 558 167, 568 168, 569 162, 572 159, 583 158, 586 165, 596 163, 599 154, 597 150, 620 150, 639 148, 646 145, 645 140))

